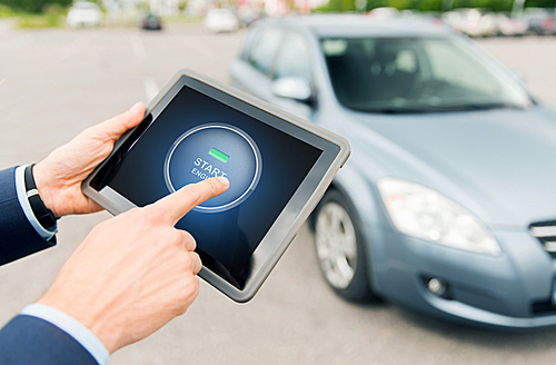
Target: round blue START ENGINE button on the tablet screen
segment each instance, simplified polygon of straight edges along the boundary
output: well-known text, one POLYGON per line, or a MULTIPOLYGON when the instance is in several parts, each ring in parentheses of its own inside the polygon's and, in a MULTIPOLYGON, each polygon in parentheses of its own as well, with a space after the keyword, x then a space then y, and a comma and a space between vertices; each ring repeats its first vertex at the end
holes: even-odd
POLYGON ((257 187, 262 159, 255 140, 244 130, 220 122, 191 128, 176 139, 165 160, 170 193, 211 177, 227 177, 229 189, 193 208, 219 213, 241 204, 257 187))

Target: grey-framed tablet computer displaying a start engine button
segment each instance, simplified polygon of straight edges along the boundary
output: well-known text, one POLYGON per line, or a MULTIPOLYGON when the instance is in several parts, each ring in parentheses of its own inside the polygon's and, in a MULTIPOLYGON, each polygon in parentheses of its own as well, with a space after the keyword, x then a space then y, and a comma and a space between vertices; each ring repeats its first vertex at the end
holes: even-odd
POLYGON ((257 293, 349 156, 348 142, 245 92, 180 71, 83 182, 111 214, 187 184, 229 189, 189 211, 199 276, 236 302, 257 293))

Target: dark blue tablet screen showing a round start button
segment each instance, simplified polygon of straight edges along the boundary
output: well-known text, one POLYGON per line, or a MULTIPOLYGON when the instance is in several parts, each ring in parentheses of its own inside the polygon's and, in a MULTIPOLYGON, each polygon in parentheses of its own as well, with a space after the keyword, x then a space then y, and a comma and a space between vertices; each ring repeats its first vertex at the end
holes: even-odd
POLYGON ((109 186, 145 206, 187 184, 228 177, 228 191, 196 207, 176 227, 195 237, 206 267, 239 289, 251 274, 252 253, 322 154, 241 107, 188 86, 133 135, 91 187, 109 186))

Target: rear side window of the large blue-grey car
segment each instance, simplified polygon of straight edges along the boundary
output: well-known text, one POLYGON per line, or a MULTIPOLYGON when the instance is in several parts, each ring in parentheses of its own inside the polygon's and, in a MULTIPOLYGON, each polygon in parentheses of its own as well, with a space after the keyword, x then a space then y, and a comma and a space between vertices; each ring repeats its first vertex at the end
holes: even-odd
POLYGON ((276 51, 282 39, 282 31, 279 29, 265 29, 259 31, 252 40, 249 55, 249 63, 265 75, 268 75, 276 57, 276 51))

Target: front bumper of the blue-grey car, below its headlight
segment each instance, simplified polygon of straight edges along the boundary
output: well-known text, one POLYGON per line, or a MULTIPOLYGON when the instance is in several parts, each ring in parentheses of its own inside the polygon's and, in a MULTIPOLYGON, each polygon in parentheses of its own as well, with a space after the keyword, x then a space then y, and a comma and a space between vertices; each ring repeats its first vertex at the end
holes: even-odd
POLYGON ((556 306, 550 302, 556 265, 527 230, 495 231, 504 251, 498 257, 445 247, 388 228, 375 229, 375 234, 387 243, 377 255, 371 247, 373 283, 386 298, 467 324, 503 328, 556 325, 556 306), (447 295, 437 296, 428 289, 431 278, 446 283, 447 295))

